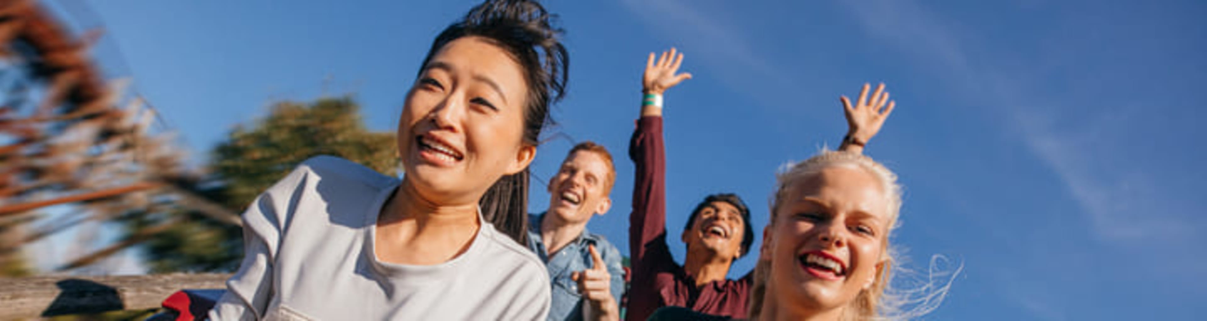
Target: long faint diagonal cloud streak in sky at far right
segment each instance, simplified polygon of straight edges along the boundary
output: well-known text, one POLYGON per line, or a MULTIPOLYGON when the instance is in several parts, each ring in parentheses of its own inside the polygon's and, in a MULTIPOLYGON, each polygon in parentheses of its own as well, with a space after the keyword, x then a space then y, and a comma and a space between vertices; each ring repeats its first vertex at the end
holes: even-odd
POLYGON ((1183 214, 1189 208, 1171 199, 1150 173, 1101 165, 1106 158, 1098 157, 1124 151, 1103 144, 1098 134, 1126 128, 1126 119, 1059 118, 1060 103, 1084 101, 1043 97, 1011 78, 1014 72, 970 63, 969 47, 952 31, 957 29, 941 25, 941 19, 917 4, 902 0, 844 4, 873 37, 938 68, 952 83, 966 87, 961 92, 975 95, 969 99, 996 101, 992 110, 1013 121, 1008 129, 1018 132, 1022 142, 1065 183, 1100 240, 1162 244, 1194 238, 1191 226, 1202 222, 1188 222, 1189 216, 1183 214))

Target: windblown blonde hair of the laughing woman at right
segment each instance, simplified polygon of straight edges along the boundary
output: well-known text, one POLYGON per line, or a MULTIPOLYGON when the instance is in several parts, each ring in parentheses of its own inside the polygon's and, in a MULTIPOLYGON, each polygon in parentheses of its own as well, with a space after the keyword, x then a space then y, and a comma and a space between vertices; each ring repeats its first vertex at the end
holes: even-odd
MULTIPOLYGON (((841 151, 822 150, 821 153, 804 162, 786 164, 776 174, 776 188, 771 195, 771 218, 768 228, 776 223, 776 211, 781 200, 786 197, 787 187, 801 179, 817 175, 826 168, 844 167, 864 170, 880 181, 881 191, 886 199, 888 214, 888 233, 885 233, 882 251, 884 265, 876 272, 875 280, 869 288, 859 291, 859 294, 846 307, 841 320, 908 320, 917 317, 938 307, 943 297, 946 296, 950 281, 944 286, 935 287, 932 281, 915 290, 897 290, 891 287, 892 272, 905 272, 897 267, 898 252, 890 246, 890 237, 898 227, 898 216, 902 206, 902 187, 897 183, 897 174, 888 170, 884 164, 873 160, 870 157, 841 151), (905 309, 906 305, 916 305, 905 309)), ((938 258, 938 257, 937 257, 938 258)), ((932 259, 931 275, 935 275, 937 258, 932 259)), ((751 290, 750 317, 758 320, 763 314, 763 300, 766 297, 766 279, 770 276, 770 258, 760 257, 754 267, 754 285, 751 290)), ((955 273, 958 274, 958 270, 955 273)), ((952 278, 955 278, 952 274, 952 278)))

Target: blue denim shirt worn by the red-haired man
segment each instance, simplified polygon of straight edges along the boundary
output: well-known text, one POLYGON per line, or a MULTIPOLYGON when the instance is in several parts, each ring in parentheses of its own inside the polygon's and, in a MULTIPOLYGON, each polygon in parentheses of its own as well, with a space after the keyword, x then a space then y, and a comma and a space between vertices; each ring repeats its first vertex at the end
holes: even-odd
MULTIPOLYGON (((624 268, 620 265, 622 255, 614 245, 604 239, 604 235, 591 234, 583 229, 578 235, 553 257, 549 257, 541 239, 541 220, 544 214, 529 215, 529 250, 536 252, 549 270, 549 281, 553 284, 553 304, 549 308, 549 320, 583 320, 583 304, 587 304, 578 292, 578 282, 570 278, 573 272, 591 268, 593 259, 588 245, 595 245, 604 263, 607 264, 607 273, 612 275, 612 297, 620 304, 620 294, 624 294, 624 268)), ((619 307, 617 307, 619 308, 619 307)))

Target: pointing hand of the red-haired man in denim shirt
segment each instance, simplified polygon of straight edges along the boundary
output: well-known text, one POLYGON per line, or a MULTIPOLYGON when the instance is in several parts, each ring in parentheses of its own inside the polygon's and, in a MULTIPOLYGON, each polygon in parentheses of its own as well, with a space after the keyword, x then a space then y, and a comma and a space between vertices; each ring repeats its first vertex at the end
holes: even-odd
POLYGON ((607 263, 595 251, 595 245, 587 247, 591 252, 590 269, 575 272, 570 278, 578 282, 578 292, 587 298, 587 320, 620 320, 620 308, 612 297, 612 274, 607 273, 607 263))

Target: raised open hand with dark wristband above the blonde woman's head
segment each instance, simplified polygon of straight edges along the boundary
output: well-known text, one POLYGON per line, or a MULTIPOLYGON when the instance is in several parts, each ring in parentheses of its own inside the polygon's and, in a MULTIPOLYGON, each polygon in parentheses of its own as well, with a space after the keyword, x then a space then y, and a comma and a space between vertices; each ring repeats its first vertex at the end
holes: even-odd
POLYGON ((871 89, 871 84, 864 83, 863 91, 859 92, 859 101, 856 101, 855 105, 851 105, 851 100, 845 95, 839 98, 842 101, 842 113, 846 115, 847 124, 846 136, 842 138, 842 145, 838 147, 839 151, 863 153, 863 147, 876 133, 880 133, 880 127, 885 124, 888 113, 892 113, 897 105, 896 101, 888 100, 888 92, 885 92, 884 83, 876 86, 876 91, 871 93, 870 98, 868 89, 871 89))

